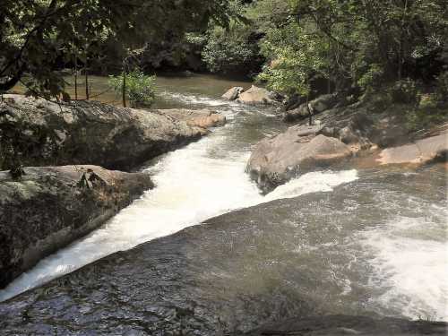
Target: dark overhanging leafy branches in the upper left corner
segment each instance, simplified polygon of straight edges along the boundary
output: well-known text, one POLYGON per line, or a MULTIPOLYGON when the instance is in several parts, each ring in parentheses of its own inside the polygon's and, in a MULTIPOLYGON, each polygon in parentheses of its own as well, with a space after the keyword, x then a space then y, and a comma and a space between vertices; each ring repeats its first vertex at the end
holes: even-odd
POLYGON ((183 39, 210 19, 228 24, 227 0, 2 0, 0 93, 22 81, 31 94, 69 99, 60 69, 121 65, 148 41, 183 39))

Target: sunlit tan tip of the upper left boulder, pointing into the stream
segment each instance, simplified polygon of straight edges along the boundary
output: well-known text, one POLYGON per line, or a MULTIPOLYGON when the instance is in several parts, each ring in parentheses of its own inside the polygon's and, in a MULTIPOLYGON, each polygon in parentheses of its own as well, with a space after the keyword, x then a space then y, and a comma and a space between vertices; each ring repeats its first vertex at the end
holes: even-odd
POLYGON ((226 117, 208 109, 159 109, 159 113, 176 120, 185 120, 187 125, 208 129, 226 124, 226 117))

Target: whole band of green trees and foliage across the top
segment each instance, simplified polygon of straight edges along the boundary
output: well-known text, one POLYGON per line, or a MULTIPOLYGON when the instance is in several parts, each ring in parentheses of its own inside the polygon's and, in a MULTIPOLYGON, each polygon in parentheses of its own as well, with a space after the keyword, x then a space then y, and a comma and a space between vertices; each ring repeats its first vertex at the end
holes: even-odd
POLYGON ((56 96, 65 67, 106 74, 138 65, 244 73, 303 97, 387 84, 446 99, 445 0, 181 3, 4 0, 0 91, 22 81, 31 93, 56 96))

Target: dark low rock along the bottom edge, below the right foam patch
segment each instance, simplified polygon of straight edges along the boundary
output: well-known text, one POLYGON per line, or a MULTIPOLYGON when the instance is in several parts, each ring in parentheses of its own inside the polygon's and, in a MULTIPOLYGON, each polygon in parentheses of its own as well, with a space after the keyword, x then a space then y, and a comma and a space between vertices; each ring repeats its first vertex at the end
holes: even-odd
POLYGON ((296 317, 280 323, 269 323, 246 336, 410 336, 444 335, 448 324, 443 322, 409 321, 392 317, 326 315, 296 317))

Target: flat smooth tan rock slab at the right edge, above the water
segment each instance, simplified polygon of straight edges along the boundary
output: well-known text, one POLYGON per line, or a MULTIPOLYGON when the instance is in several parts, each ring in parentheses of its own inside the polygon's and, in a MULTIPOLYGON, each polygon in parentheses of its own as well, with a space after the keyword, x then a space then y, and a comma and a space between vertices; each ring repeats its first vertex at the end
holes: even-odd
POLYGON ((418 140, 399 147, 381 151, 378 161, 383 164, 416 163, 424 164, 434 159, 446 160, 448 153, 448 134, 440 134, 418 140))

